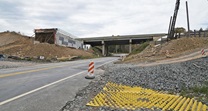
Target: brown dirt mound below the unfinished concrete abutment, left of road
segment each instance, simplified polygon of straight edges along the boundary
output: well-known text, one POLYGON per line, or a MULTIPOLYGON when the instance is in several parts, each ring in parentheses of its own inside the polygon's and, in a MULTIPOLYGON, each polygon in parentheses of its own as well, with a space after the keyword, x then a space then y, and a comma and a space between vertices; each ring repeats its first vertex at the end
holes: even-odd
POLYGON ((14 55, 19 57, 44 56, 46 58, 69 56, 93 56, 93 54, 83 50, 57 46, 54 44, 33 44, 33 40, 31 38, 22 36, 14 32, 0 33, 0 39, 1 54, 14 55))

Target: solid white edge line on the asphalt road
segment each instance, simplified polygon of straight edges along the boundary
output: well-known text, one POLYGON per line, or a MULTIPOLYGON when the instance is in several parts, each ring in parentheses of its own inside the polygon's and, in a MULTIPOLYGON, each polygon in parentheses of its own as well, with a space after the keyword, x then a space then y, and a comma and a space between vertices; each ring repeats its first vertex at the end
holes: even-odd
POLYGON ((1 106, 1 105, 4 105, 4 104, 6 104, 6 103, 9 103, 9 102, 11 102, 11 101, 14 101, 14 100, 16 100, 16 99, 19 99, 19 98, 21 98, 21 97, 24 97, 24 96, 26 96, 26 95, 29 95, 29 94, 31 94, 31 93, 34 93, 34 92, 36 92, 36 91, 39 91, 39 90, 41 90, 41 89, 44 89, 44 88, 46 88, 46 87, 49 87, 49 86, 51 86, 51 85, 57 84, 57 83, 59 83, 59 82, 62 82, 62 81, 64 81, 64 80, 66 80, 66 79, 69 79, 69 78, 72 78, 72 77, 74 77, 74 76, 80 75, 80 74, 82 74, 82 73, 84 73, 84 72, 85 72, 85 71, 76 73, 76 74, 74 74, 74 75, 68 76, 68 77, 66 77, 66 78, 60 79, 60 80, 58 80, 58 81, 55 81, 55 82, 52 82, 52 83, 47 84, 47 85, 45 85, 45 86, 39 87, 39 88, 37 88, 37 89, 34 89, 34 90, 32 90, 32 91, 29 91, 29 92, 23 93, 23 94, 21 94, 21 95, 15 96, 15 97, 13 97, 13 98, 10 98, 10 99, 8 99, 8 100, 2 101, 2 102, 0 102, 0 106, 1 106))

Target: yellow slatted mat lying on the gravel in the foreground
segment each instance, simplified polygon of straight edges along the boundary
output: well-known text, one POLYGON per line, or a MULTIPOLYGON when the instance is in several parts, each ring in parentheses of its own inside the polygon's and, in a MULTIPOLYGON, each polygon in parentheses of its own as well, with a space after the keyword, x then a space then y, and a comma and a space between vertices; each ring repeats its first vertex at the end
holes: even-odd
POLYGON ((164 111, 207 111, 205 104, 194 99, 110 82, 87 105, 129 110, 147 108, 164 111))

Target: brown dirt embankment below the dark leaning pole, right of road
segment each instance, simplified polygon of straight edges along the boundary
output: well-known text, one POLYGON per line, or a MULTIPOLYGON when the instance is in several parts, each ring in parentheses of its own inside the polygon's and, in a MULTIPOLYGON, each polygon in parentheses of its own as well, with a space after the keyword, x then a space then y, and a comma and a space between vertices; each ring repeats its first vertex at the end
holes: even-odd
POLYGON ((208 38, 184 37, 169 41, 162 45, 151 43, 139 54, 129 55, 125 63, 153 62, 156 60, 178 57, 202 48, 208 48, 208 38))

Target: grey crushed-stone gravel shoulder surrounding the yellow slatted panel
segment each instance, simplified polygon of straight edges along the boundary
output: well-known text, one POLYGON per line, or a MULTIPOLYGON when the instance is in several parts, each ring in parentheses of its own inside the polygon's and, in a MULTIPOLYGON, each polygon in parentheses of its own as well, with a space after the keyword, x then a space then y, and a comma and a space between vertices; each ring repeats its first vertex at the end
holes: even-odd
MULTIPOLYGON (((129 86, 141 86, 170 94, 180 94, 198 99, 208 105, 207 93, 194 92, 195 87, 207 86, 208 58, 198 58, 185 62, 138 66, 130 64, 108 64, 102 67, 105 73, 80 90, 73 101, 68 101, 61 111, 126 111, 107 107, 89 107, 87 102, 98 94, 107 82, 129 86)), ((141 109, 149 111, 149 109, 141 109)))

